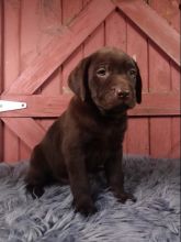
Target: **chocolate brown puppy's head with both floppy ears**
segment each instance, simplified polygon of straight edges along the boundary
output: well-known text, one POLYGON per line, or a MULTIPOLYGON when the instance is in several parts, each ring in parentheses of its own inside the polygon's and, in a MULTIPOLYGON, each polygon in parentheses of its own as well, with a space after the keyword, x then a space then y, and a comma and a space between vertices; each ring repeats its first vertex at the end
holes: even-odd
POLYGON ((70 73, 70 89, 104 111, 126 110, 142 102, 142 78, 135 61, 117 48, 103 47, 70 73))

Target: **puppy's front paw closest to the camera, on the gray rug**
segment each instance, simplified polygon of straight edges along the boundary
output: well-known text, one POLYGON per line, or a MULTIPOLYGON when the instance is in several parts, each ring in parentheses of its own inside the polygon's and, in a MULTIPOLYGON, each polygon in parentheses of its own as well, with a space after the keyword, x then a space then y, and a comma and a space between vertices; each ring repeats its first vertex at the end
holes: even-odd
POLYGON ((76 204, 76 211, 88 217, 94 215, 98 210, 90 199, 82 199, 76 204))

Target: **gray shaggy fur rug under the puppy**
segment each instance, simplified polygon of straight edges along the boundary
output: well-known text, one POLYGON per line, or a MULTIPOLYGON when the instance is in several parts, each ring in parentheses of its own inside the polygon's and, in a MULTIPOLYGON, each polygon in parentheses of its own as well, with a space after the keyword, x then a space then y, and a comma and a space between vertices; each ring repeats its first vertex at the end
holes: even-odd
POLYGON ((29 163, 0 164, 0 242, 179 242, 180 161, 124 157, 125 186, 137 201, 118 204, 104 175, 91 182, 99 212, 75 213, 69 186, 25 194, 29 163))

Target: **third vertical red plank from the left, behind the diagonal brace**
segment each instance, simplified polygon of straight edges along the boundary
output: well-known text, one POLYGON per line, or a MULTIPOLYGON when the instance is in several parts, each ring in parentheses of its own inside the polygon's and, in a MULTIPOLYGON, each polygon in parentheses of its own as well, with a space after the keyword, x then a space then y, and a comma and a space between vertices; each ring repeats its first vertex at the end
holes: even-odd
MULTIPOLYGON (((38 52, 42 53, 44 47, 50 43, 53 37, 58 34, 61 28, 63 9, 61 1, 41 1, 39 18, 39 40, 38 40, 38 52)), ((61 68, 57 68, 47 80, 41 86, 36 94, 43 96, 60 95, 61 94, 61 68)), ((52 119, 36 119, 36 122, 42 125, 45 130, 52 124, 52 119)))

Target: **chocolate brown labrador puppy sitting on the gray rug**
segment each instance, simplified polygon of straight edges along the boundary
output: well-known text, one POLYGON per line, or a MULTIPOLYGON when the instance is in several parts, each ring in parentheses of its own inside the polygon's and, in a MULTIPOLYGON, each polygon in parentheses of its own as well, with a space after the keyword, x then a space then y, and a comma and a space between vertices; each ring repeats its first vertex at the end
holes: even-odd
POLYGON ((117 48, 103 47, 78 64, 68 85, 75 96, 33 151, 27 190, 39 197, 45 185, 68 180, 76 209, 87 216, 97 211, 88 174, 102 166, 115 197, 134 200, 123 186, 122 143, 126 112, 142 101, 137 64, 117 48))

